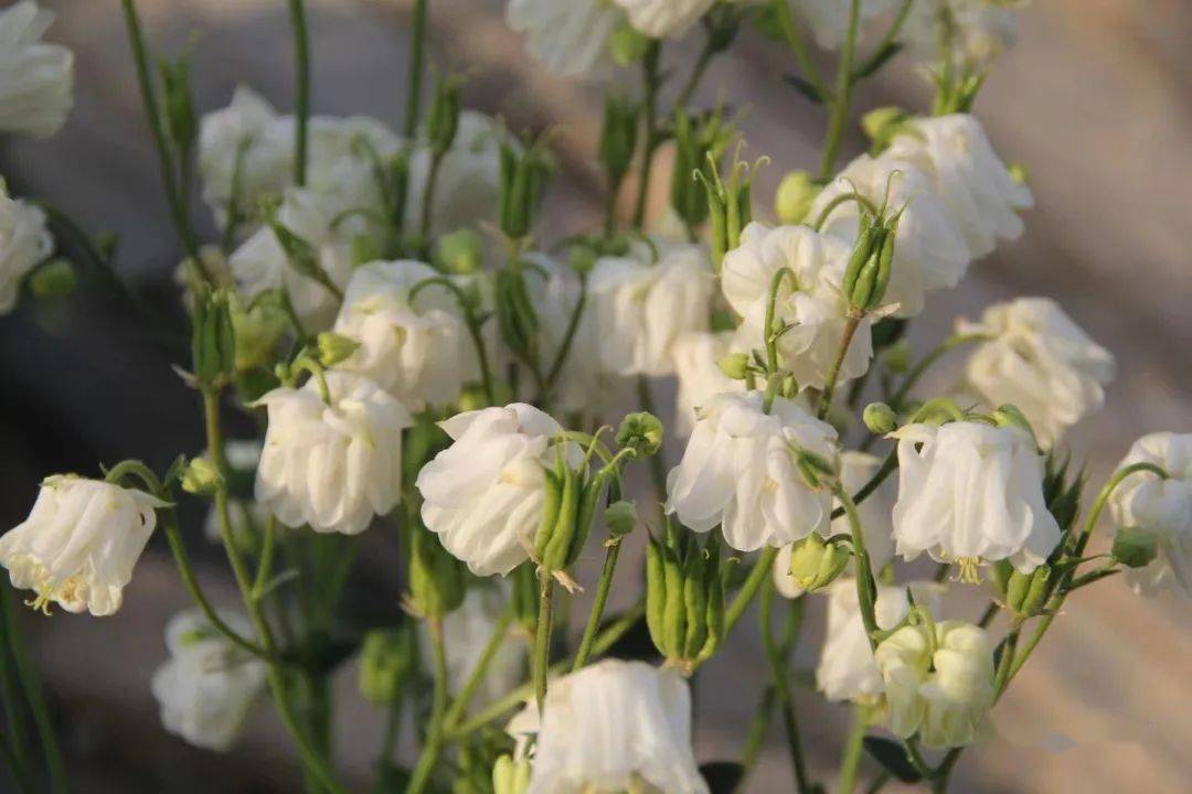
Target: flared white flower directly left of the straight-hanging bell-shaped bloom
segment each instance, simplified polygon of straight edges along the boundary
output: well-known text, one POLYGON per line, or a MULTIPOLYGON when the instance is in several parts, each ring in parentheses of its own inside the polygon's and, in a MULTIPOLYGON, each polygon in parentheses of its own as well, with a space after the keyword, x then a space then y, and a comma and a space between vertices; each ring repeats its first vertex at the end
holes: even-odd
POLYGON ((666 512, 696 532, 720 524, 738 551, 794 543, 827 526, 832 498, 806 483, 791 448, 831 459, 834 444, 836 430, 791 400, 768 414, 760 392, 718 394, 666 477, 666 512))

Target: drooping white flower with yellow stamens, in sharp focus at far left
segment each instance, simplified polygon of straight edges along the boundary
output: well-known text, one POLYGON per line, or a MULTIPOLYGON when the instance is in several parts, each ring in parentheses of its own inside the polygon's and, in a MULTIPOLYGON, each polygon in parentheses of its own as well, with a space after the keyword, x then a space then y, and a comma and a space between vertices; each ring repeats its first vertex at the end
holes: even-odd
POLYGON ((12 586, 67 612, 110 615, 166 502, 103 480, 46 477, 24 523, 0 537, 0 565, 12 586))

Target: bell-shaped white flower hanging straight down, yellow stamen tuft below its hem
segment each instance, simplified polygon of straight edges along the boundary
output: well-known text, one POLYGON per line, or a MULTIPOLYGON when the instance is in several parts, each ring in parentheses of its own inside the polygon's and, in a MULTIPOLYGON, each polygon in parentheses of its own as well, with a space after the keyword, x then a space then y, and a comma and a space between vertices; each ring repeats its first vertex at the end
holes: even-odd
POLYGON ((1030 573, 1060 543, 1043 501, 1043 456, 1017 427, 954 421, 906 425, 899 439, 894 543, 912 559, 958 563, 966 579, 983 562, 1010 559, 1030 573))

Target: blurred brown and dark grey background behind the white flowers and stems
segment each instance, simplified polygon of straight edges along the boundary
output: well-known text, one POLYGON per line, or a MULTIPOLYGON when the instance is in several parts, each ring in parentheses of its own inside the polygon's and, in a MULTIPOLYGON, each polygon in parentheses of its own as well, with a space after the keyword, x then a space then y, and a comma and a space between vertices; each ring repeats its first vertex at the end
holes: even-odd
MULTIPOLYGON (((49 142, 6 139, 0 173, 15 194, 44 196, 92 232, 117 232, 122 279, 155 310, 174 312, 178 246, 118 2, 43 5, 58 11, 48 38, 76 52, 76 106, 49 142)), ((503 5, 434 0, 434 60, 468 76, 468 105, 504 117, 515 130, 557 130, 563 169, 545 229, 558 238, 594 227, 601 183, 589 158, 600 129, 600 89, 555 80, 529 61, 503 24, 503 5)), ((281 0, 141 0, 138 6, 159 52, 193 43, 200 112, 224 106, 238 82, 283 111, 291 108, 281 0)), ((410 2, 310 0, 309 6, 315 110, 368 113, 398 126, 410 2)), ((993 70, 975 112, 1002 157, 1029 168, 1037 207, 1026 215, 1020 240, 999 248, 958 289, 930 305, 912 340, 923 350, 955 317, 973 317, 1011 295, 1060 300, 1118 357, 1105 409, 1070 434, 1073 451, 1088 461, 1098 483, 1137 436, 1192 430, 1186 242, 1192 4, 1036 0, 1022 17, 1019 45, 993 70)), ((669 49, 676 63, 695 56, 682 45, 669 49)), ((755 189, 759 204, 769 201, 787 169, 817 161, 825 124, 822 110, 781 80, 790 68, 787 57, 746 32, 699 94, 704 104, 730 94, 743 111, 749 152, 774 161, 755 189)), ((898 60, 863 86, 856 107, 921 107, 924 98, 921 79, 898 60)), ((850 135, 848 156, 864 145, 850 135)), ((665 181, 657 185, 653 205, 660 211, 665 181)), ((49 473, 93 473, 97 463, 124 457, 163 468, 179 451, 200 448, 195 396, 169 368, 180 361, 176 348, 167 336, 147 338, 134 319, 126 304, 101 288, 48 306, 30 301, 0 318, 0 527, 25 517, 49 473)), ((942 367, 936 383, 951 377, 942 367)), ((201 514, 187 518, 192 551, 204 563, 200 575, 216 601, 232 604, 219 556, 203 549, 201 514)), ((637 574, 629 568, 622 565, 614 609, 633 598, 637 574)), ((396 570, 392 556, 368 555, 359 563, 368 599, 384 608, 396 608, 396 570)), ((267 708, 228 755, 195 751, 161 730, 149 677, 164 657, 167 619, 186 605, 164 542, 156 538, 116 617, 26 615, 66 726, 79 790, 297 790, 287 744, 267 708)), ((1192 609, 1172 596, 1140 600, 1111 581, 1081 592, 1068 612, 999 705, 997 736, 966 754, 955 790, 1190 790, 1192 609)), ((797 665, 814 665, 821 623, 821 609, 811 609, 797 665)), ((751 621, 732 645, 700 679, 701 762, 735 757, 766 679, 751 621)), ((354 695, 353 675, 346 669, 339 682, 337 761, 364 780, 381 719, 354 695)), ((828 779, 846 712, 808 693, 799 698, 812 767, 828 779)), ((769 736, 749 790, 791 790, 777 724, 769 736)))

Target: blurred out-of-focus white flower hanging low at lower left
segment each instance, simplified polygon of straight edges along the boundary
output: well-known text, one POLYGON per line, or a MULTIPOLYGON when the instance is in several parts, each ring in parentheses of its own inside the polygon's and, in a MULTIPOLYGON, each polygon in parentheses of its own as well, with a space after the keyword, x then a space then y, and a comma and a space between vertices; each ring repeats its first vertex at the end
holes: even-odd
MULTIPOLYGON (((238 614, 219 618, 241 636, 252 633, 238 614)), ((150 682, 162 725, 197 748, 229 750, 265 686, 265 663, 234 645, 198 609, 169 619, 166 648, 169 659, 150 682)))

